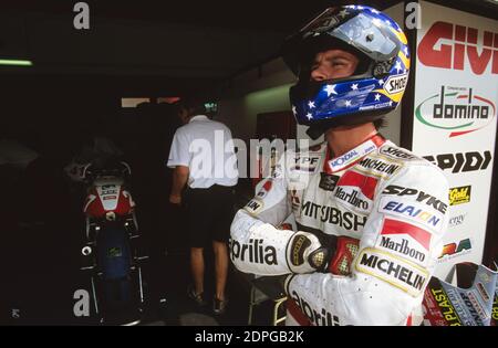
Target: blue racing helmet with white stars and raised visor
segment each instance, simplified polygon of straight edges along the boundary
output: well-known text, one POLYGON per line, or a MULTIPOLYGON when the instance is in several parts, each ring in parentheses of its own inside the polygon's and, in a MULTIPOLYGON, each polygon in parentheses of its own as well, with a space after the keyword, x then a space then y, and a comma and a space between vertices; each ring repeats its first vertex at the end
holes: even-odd
POLYGON ((366 6, 329 8, 282 46, 282 57, 298 76, 290 88, 292 112, 308 134, 318 138, 341 125, 374 122, 396 108, 405 91, 409 51, 400 25, 366 6), (319 52, 340 49, 354 54, 359 64, 352 76, 311 81, 311 65, 319 52))

